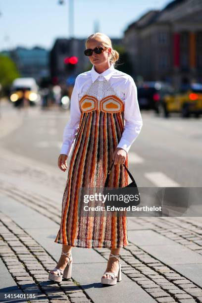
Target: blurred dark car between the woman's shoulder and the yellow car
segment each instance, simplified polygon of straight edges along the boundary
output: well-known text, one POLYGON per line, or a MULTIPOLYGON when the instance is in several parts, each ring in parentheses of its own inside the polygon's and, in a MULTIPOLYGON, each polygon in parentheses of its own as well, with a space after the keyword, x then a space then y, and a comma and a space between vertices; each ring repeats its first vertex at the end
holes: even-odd
POLYGON ((137 87, 140 109, 154 109, 156 113, 159 113, 159 103, 165 94, 172 92, 172 90, 173 88, 164 82, 144 82, 137 87))

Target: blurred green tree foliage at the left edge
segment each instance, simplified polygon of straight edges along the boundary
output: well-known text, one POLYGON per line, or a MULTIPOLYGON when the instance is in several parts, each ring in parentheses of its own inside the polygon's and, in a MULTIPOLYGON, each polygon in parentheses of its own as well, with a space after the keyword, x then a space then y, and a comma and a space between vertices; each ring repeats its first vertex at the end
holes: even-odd
POLYGON ((0 54, 0 84, 2 90, 8 90, 12 81, 18 77, 20 77, 20 74, 13 60, 0 54))

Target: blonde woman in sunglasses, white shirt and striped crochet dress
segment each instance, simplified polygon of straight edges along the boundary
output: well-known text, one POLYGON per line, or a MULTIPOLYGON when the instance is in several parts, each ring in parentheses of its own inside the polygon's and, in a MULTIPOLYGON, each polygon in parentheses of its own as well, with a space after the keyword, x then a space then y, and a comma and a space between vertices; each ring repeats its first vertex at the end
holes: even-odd
POLYGON ((137 88, 131 76, 114 68, 119 54, 111 40, 96 33, 86 40, 85 55, 93 67, 77 76, 71 96, 70 121, 63 133, 58 166, 67 169, 73 141, 68 178, 63 195, 60 229, 55 243, 62 254, 49 278, 71 277, 71 247, 109 248, 102 284, 120 281, 120 248, 128 245, 127 218, 78 215, 78 191, 82 187, 103 187, 112 161, 107 187, 128 185, 128 151, 142 128, 137 88), (124 126, 125 120, 125 126, 124 126), (118 277, 118 278, 117 278, 118 277))

